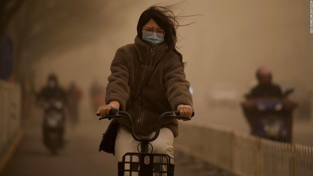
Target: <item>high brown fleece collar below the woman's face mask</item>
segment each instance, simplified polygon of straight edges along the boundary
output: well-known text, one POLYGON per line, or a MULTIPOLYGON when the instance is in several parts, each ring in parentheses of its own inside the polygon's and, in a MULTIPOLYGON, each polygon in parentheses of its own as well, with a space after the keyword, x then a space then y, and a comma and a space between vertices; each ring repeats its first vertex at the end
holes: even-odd
POLYGON ((135 46, 136 49, 139 53, 139 60, 142 63, 147 63, 149 56, 150 56, 150 52, 151 52, 151 48, 152 51, 154 51, 154 55, 152 56, 152 64, 155 65, 160 58, 162 58, 164 52, 167 50, 167 43, 163 42, 159 45, 150 45, 144 41, 142 41, 138 35, 135 38, 135 46))

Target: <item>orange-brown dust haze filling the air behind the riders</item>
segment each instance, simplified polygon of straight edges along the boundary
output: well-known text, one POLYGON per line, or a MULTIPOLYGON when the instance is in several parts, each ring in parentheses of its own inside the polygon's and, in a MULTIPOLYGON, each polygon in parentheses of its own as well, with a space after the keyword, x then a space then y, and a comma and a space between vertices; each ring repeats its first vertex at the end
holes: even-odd
MULTIPOLYGON (((16 56, 21 58, 19 74, 33 80, 35 91, 46 84, 50 73, 58 76, 63 87, 76 82, 84 94, 80 125, 91 125, 81 128, 86 133, 79 133, 85 138, 89 134, 98 137, 97 144, 105 128, 98 125, 96 109, 90 105, 91 84, 96 81, 106 86, 116 50, 134 43, 139 16, 147 7, 176 2, 26 2, 9 25, 13 41, 23 48, 16 56), (21 35, 24 37, 20 42, 21 35), (95 131, 89 128, 100 133, 91 134, 95 131)), ((240 102, 257 83, 256 69, 268 66, 273 81, 283 90, 295 88, 290 99, 297 101, 299 107, 294 113, 293 142, 313 146, 312 113, 300 117, 303 102, 309 102, 309 112, 313 108, 309 8, 309 1, 304 0, 198 0, 188 4, 183 12, 178 10, 183 15, 200 14, 181 22, 194 24, 178 28, 178 51, 187 62, 185 73, 193 89, 196 113, 188 123, 249 133, 240 102)), ((40 114, 39 110, 34 111, 40 114)))

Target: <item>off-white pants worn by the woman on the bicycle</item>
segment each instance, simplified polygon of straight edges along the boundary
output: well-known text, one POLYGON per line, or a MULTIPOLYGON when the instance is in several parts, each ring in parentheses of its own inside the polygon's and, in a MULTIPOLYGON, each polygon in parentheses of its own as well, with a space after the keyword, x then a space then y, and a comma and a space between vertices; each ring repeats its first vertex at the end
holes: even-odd
MULTIPOLYGON (((155 132, 149 135, 149 138, 153 137, 155 132)), ((159 136, 156 140, 150 142, 153 146, 152 153, 160 153, 160 154, 167 154, 171 158, 171 163, 174 163, 174 147, 173 147, 174 135, 172 131, 168 128, 161 128, 159 136)), ((129 132, 126 128, 118 127, 117 129, 117 136, 115 139, 115 156, 118 161, 122 161, 122 158, 125 153, 132 152, 138 153, 137 146, 140 142, 136 141, 132 136, 131 132, 129 132)), ((148 151, 151 152, 152 148, 149 145, 148 151)), ((139 151, 141 151, 141 146, 139 146, 139 151)), ((161 162, 159 161, 159 157, 154 159, 154 162, 161 162)), ((163 167, 163 170, 166 170, 163 167)), ((125 175, 128 175, 125 173, 125 175)), ((132 173, 132 176, 135 175, 132 173)), ((157 175, 157 174, 156 174, 157 175)))

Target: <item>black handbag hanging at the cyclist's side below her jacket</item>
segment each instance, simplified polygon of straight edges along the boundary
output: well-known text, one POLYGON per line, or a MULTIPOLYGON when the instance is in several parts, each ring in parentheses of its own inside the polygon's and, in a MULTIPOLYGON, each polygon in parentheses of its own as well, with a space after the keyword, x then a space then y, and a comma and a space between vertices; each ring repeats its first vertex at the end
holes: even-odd
POLYGON ((102 150, 106 153, 112 153, 115 155, 114 147, 115 147, 115 138, 117 135, 117 127, 119 125, 118 120, 112 120, 106 129, 105 133, 103 133, 102 140, 99 146, 99 152, 102 150))

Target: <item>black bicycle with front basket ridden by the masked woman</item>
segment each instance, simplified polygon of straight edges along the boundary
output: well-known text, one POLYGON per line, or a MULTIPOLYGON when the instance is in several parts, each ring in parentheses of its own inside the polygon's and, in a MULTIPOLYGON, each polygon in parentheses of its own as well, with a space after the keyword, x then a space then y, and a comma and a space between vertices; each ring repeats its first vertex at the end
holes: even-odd
MULTIPOLYGON (((194 112, 192 111, 192 117, 194 116, 194 112)), ((179 116, 179 111, 172 111, 172 112, 165 112, 162 113, 159 117, 158 120, 158 127, 156 129, 156 133, 152 138, 149 138, 148 136, 142 136, 138 137, 135 132, 134 132, 134 127, 133 127, 133 122, 131 115, 127 112, 124 111, 119 111, 118 109, 111 109, 109 115, 105 117, 99 118, 99 120, 108 118, 111 120, 112 118, 121 118, 121 117, 127 117, 130 123, 131 127, 131 135, 132 137, 141 143, 138 144, 137 150, 138 153, 126 153, 123 156, 122 161, 118 162, 118 176, 124 176, 124 173, 129 173, 131 176, 132 173, 136 173, 139 176, 153 176, 153 173, 159 173, 160 175, 167 175, 167 176, 174 176, 174 164, 171 163, 171 159, 167 154, 158 154, 158 153, 152 153, 153 151, 153 146, 151 143, 154 141, 161 129, 161 120, 162 118, 165 117, 172 117, 172 118, 177 118, 178 120, 180 119, 186 119, 186 120, 191 120, 191 118, 187 118, 184 116, 179 116), (139 145, 141 144, 141 152, 139 152, 139 145), (148 147, 149 144, 151 145, 152 151, 151 153, 148 153, 148 147), (126 157, 129 156, 129 161, 126 161, 126 157), (136 159, 133 159, 135 156, 136 159), (154 162, 155 157, 160 157, 161 162, 154 162), (165 161, 163 161, 165 159, 165 161), (125 167, 125 165, 127 165, 125 167), (162 166, 166 166, 166 169, 163 170, 162 166)))

